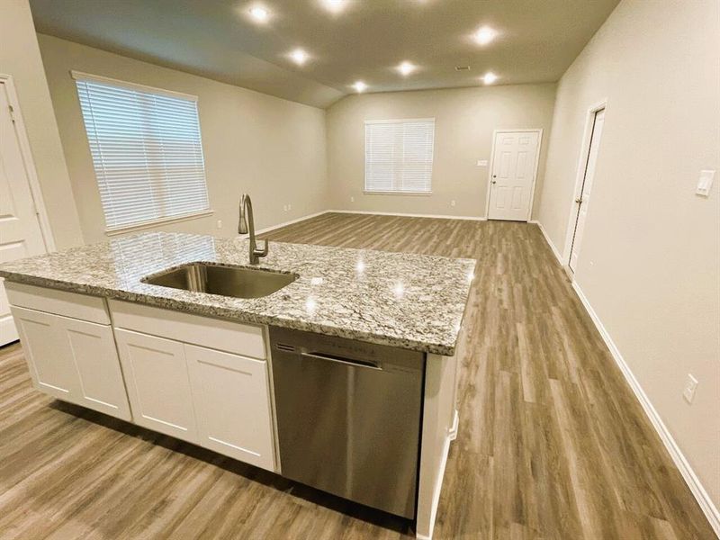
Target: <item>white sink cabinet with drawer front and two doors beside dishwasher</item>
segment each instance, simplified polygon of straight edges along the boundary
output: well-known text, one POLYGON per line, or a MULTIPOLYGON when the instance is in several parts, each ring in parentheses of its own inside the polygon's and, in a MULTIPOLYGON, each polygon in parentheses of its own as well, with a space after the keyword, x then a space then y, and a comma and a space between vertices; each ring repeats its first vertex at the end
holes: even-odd
POLYGON ((109 306, 137 424, 276 471, 266 329, 132 302, 109 306))

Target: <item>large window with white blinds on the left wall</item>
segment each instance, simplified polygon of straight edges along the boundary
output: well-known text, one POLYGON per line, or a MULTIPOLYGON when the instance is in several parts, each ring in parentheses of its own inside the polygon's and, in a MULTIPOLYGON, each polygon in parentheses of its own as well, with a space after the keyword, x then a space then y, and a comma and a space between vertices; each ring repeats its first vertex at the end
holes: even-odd
POLYGON ((72 75, 108 231, 210 210, 196 97, 72 75))

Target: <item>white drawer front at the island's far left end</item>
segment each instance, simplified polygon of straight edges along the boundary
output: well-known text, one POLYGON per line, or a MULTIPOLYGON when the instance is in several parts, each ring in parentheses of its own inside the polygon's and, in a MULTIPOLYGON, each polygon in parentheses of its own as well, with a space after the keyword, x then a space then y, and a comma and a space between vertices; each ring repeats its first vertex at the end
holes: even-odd
POLYGON ((58 289, 8 281, 5 281, 4 285, 10 305, 97 324, 110 324, 105 299, 100 296, 68 293, 58 289))

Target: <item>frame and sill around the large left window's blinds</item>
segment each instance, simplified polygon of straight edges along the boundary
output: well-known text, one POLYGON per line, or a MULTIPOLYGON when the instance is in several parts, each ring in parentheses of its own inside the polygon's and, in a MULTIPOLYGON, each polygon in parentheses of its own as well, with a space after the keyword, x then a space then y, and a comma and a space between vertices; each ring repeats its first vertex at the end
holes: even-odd
MULTIPOLYGON (((94 74, 90 74, 90 73, 85 73, 83 71, 76 71, 74 69, 70 70, 70 76, 72 76, 72 78, 75 80, 75 83, 76 83, 76 88, 75 88, 76 96, 78 99, 78 106, 80 108, 80 116, 83 121, 83 128, 85 130, 85 141, 88 144, 88 151, 91 154, 91 157, 90 157, 91 162, 93 162, 92 163, 93 175, 94 175, 94 180, 95 180, 95 187, 98 190, 98 194, 100 194, 100 183, 98 181, 97 172, 96 172, 95 166, 94 166, 94 157, 92 155, 92 149, 90 148, 89 132, 87 129, 87 125, 85 124, 85 114, 82 110, 82 105, 79 103, 80 95, 79 95, 79 89, 77 88, 77 82, 83 82, 83 81, 96 82, 96 83, 101 83, 103 85, 112 85, 112 86, 116 86, 116 87, 120 87, 120 88, 126 88, 129 90, 143 92, 145 94, 159 94, 159 95, 164 95, 164 96, 170 97, 170 98, 182 99, 185 101, 192 101, 193 103, 198 103, 198 101, 199 101, 197 95, 184 94, 182 92, 166 90, 165 88, 157 88, 156 86, 148 86, 148 85, 140 85, 138 83, 130 83, 128 81, 122 81, 120 79, 115 79, 115 78, 108 77, 108 76, 94 75, 94 74)), ((203 176, 203 183, 204 183, 204 187, 205 187, 205 193, 207 195, 207 208, 204 208, 201 210, 188 211, 188 212, 181 213, 181 214, 166 215, 166 216, 162 216, 162 217, 152 219, 152 220, 139 220, 139 221, 130 222, 130 223, 123 223, 123 224, 117 225, 117 226, 108 226, 107 216, 105 215, 105 208, 103 205, 102 197, 99 197, 100 205, 103 210, 103 218, 105 220, 104 232, 105 232, 106 236, 114 236, 114 235, 130 232, 133 230, 151 229, 151 228, 157 227, 157 225, 164 225, 164 224, 168 224, 168 223, 176 223, 176 222, 185 221, 185 220, 195 220, 198 218, 211 216, 214 213, 214 210, 212 210, 212 207, 211 207, 210 186, 208 185, 207 170, 205 168, 205 152, 204 152, 204 148, 202 148, 203 147, 203 145, 202 145, 202 126, 200 124, 200 111, 197 109, 197 104, 195 106, 196 106, 196 113, 197 113, 197 134, 198 134, 198 140, 199 140, 199 144, 200 144, 200 151, 201 151, 201 155, 202 155, 202 176, 203 176)))

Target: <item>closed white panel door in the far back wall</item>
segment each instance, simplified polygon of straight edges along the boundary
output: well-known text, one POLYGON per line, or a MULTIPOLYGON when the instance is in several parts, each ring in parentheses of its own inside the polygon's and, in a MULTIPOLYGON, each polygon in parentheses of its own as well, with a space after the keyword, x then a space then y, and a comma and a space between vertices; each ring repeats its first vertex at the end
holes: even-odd
POLYGON ((488 219, 528 220, 539 141, 538 131, 495 133, 488 219))

